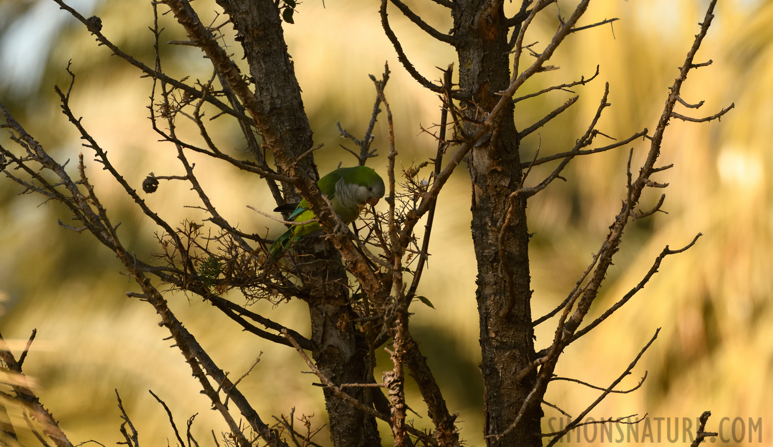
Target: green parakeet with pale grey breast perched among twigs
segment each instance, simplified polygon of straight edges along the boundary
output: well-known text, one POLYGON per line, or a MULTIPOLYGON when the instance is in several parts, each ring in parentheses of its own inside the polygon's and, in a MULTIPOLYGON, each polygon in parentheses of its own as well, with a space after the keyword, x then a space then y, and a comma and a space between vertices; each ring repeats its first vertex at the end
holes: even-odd
MULTIPOLYGON (((351 224, 359 217, 359 212, 363 206, 366 204, 376 205, 379 199, 384 196, 383 179, 376 174, 376 171, 367 166, 335 169, 319 179, 317 186, 328 197, 333 210, 346 225, 351 224)), ((308 202, 304 199, 291 213, 288 220, 304 222, 315 217, 315 213, 309 210, 308 202)), ((271 259, 278 258, 293 242, 319 229, 320 226, 317 222, 293 225, 278 237, 277 241, 269 248, 268 253, 271 255, 271 259)))

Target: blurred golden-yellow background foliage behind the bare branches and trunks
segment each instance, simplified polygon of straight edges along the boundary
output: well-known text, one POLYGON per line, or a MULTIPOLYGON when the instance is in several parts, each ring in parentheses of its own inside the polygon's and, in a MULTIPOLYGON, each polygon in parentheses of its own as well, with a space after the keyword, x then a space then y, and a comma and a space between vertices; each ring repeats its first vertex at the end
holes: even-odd
MULTIPOLYGON (((450 29, 451 21, 438 5, 408 3, 436 28, 450 29)), ((73 0, 70 4, 85 16, 99 15, 109 39, 152 65, 150 2, 73 0)), ((213 1, 194 5, 204 22, 223 21, 213 1)), ((573 5, 560 2, 561 11, 566 13, 573 5)), ((611 17, 621 20, 614 27, 570 36, 552 60, 560 70, 544 73, 525 89, 590 77, 597 65, 601 74, 575 90, 581 94, 577 104, 523 142, 522 159, 532 157, 537 147, 540 155, 547 155, 573 145, 598 107, 604 82, 610 83, 612 107, 601 119, 601 131, 615 138, 645 127, 652 131, 706 5, 706 0, 594 2, 584 24, 611 17)), ((512 14, 510 9, 516 5, 506 3, 506 8, 512 14)), ((550 39, 557 23, 551 8, 553 12, 543 15, 527 34, 528 42, 542 45, 550 39)), ((334 169, 342 160, 344 165, 355 162, 339 148, 339 143, 346 142, 339 138, 335 123, 340 121, 343 128, 362 135, 375 97, 367 75, 380 75, 385 60, 393 73, 386 94, 395 115, 400 163, 407 166, 434 156, 434 141, 421 132, 420 125, 430 128, 438 122, 439 101, 421 90, 397 63, 376 10, 375 2, 326 0, 323 5, 315 0, 299 5, 295 24, 285 26, 315 142, 325 143, 315 152, 320 172, 334 169)), ((393 29, 414 65, 425 76, 439 78, 435 67, 455 62, 455 54, 424 36, 396 9, 390 12, 393 29)), ((165 27, 162 42, 185 39, 170 15, 163 15, 160 22, 165 27)), ((595 312, 603 312, 638 283, 666 244, 682 247, 698 232, 704 236, 685 254, 666 258, 659 274, 632 302, 571 346, 559 363, 557 374, 605 387, 662 327, 659 340, 621 385, 632 387, 647 370, 642 389, 611 396, 593 411, 595 418, 645 413, 695 418, 710 409, 711 428, 724 416, 761 417, 764 440, 771 439, 773 410, 768 403, 773 400, 773 388, 768 384, 773 378, 773 326, 768 322, 773 306, 768 297, 773 290, 773 207, 767 178, 773 166, 769 150, 773 140, 771 22, 770 1, 723 0, 717 7, 717 19, 698 56, 699 62, 711 59, 713 65, 691 72, 683 90, 686 101, 706 103, 699 111, 679 112, 704 116, 730 102, 735 102, 736 109, 721 122, 673 121, 669 126, 661 159, 674 167, 656 179, 670 183, 663 208, 668 214, 658 213, 629 228, 595 312)), ((230 36, 224 43, 240 59, 240 47, 230 36)), ((202 81, 211 76, 211 66, 197 49, 162 45, 161 50, 169 74, 202 81)), ((83 116, 84 125, 107 148, 128 182, 139 188, 148 172, 181 175, 174 148, 157 142, 147 119, 150 80, 97 46, 84 27, 53 2, 0 0, 0 98, 53 155, 71 159, 70 169, 74 169, 83 148, 59 113, 53 92, 53 84, 65 87, 69 82, 65 67, 70 60, 77 76, 73 110, 83 116)), ((520 102, 516 124, 530 125, 570 96, 554 92, 520 102)), ((380 120, 374 143, 382 155, 371 163, 382 173, 388 144, 384 121, 380 120)), ((200 142, 191 127, 181 123, 179 131, 200 142)), ((223 151, 247 157, 233 121, 212 121, 210 132, 223 151)), ((6 137, 2 144, 12 146, 6 137)), ((643 158, 647 143, 632 145, 634 162, 643 158)), ((88 152, 85 155, 88 161, 88 152)), ((564 299, 591 261, 591 253, 598 250, 624 195, 627 158, 628 150, 621 149, 575 159, 565 171, 566 183, 553 183, 531 200, 530 229, 536 233, 530 244, 535 318, 564 299)), ((274 207, 260 179, 194 155, 191 159, 225 217, 238 222, 242 230, 268 237, 278 234, 277 223, 246 207, 274 207)), ((124 245, 148 258, 158 249, 156 228, 96 163, 90 162, 88 168, 114 222, 122 222, 119 235, 124 245)), ((530 181, 540 181, 550 169, 552 165, 534 169, 530 181)), ((152 308, 124 295, 135 285, 119 275, 117 260, 89 235, 58 227, 56 219, 67 223, 69 216, 56 203, 19 196, 19 191, 14 183, 0 183, 0 329, 12 340, 16 353, 32 328, 38 329, 26 372, 35 378, 44 404, 73 442, 95 439, 108 445, 121 439, 113 391, 117 388, 141 442, 165 445, 173 434, 163 409, 147 393, 152 389, 169 404, 179 425, 197 413, 193 434, 203 445, 212 445, 209 431, 219 433, 225 426, 209 411, 179 351, 162 340, 167 334, 155 325, 152 308)), ((649 197, 650 203, 656 203, 660 191, 656 193, 649 197)), ((196 205, 196 197, 183 183, 162 183, 158 193, 146 200, 172 223, 206 218, 199 210, 184 207, 196 205)), ((482 445, 469 200, 469 179, 460 169, 441 194, 433 256, 420 289, 436 309, 417 306, 411 330, 422 341, 422 350, 444 386, 449 408, 460 412, 462 437, 469 445, 482 445)), ((241 387, 264 419, 287 415, 295 407, 296 415, 315 414, 316 425, 325 421, 322 393, 309 386, 312 377, 300 374, 305 365, 295 352, 241 333, 198 299, 170 294, 169 302, 231 377, 240 377, 263 352, 241 387)), ((301 332, 308 326, 302 303, 277 307, 259 303, 255 308, 301 332)), ((547 346, 553 326, 543 323, 536 334, 538 349, 547 346)), ((553 385, 548 399, 574 416, 597 396, 598 391, 561 382, 553 385)), ((413 408, 424 415, 417 394, 413 398, 413 408)), ((560 416, 550 408, 546 412, 560 416)), ((12 419, 17 427, 23 425, 13 415, 12 419)), ((424 422, 417 417, 416 424, 424 422)), ((317 441, 324 444, 327 438, 319 435, 317 441)))

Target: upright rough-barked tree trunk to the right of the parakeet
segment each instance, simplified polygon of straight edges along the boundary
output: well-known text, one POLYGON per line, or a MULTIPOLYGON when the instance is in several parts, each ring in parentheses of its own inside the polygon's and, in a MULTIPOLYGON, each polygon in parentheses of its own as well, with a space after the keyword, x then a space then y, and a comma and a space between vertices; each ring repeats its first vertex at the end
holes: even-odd
MULTIPOLYGON (((459 86, 472 95, 477 107, 488 112, 499 100, 496 92, 506 90, 510 80, 502 0, 457 0, 455 6, 459 86)), ((513 107, 503 112, 490 135, 468 158, 472 239, 478 262, 475 295, 480 317, 485 435, 506 431, 536 381, 536 372, 516 380, 534 357, 529 234, 526 200, 520 196, 512 200, 512 216, 502 228, 508 220, 509 195, 519 188, 523 176, 513 107)), ((480 118, 475 117, 475 107, 467 107, 466 113, 469 118, 480 118)), ((542 445, 542 415, 540 405, 526 408, 515 430, 499 441, 487 438, 488 445, 542 445)))

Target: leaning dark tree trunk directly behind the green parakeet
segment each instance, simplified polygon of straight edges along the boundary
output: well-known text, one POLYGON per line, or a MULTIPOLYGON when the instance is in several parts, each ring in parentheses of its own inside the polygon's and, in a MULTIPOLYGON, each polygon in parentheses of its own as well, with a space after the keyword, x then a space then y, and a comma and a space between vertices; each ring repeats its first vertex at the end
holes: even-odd
MULTIPOLYGON (((301 88, 284 42, 280 10, 271 0, 218 0, 230 15, 237 39, 242 42, 250 67, 255 95, 270 125, 280 135, 281 144, 298 156, 312 148, 312 129, 303 108, 301 88)), ((312 178, 318 179, 311 155, 298 163, 312 178)), ((287 201, 298 200, 294 188, 285 188, 287 201)), ((313 239, 313 238, 312 238, 313 239)), ((312 357, 322 374, 335 384, 363 383, 373 377, 366 346, 356 338, 349 319, 356 318, 349 308, 346 271, 340 255, 331 244, 300 244, 298 253, 312 254, 313 261, 299 262, 300 276, 308 285, 308 306, 315 350, 312 357), (330 261, 328 261, 330 260, 330 261), (364 349, 363 349, 364 348, 364 349)), ((371 389, 347 391, 363 404, 372 406, 371 389)), ((336 446, 380 447, 376 420, 336 398, 325 390, 331 437, 336 446)))

